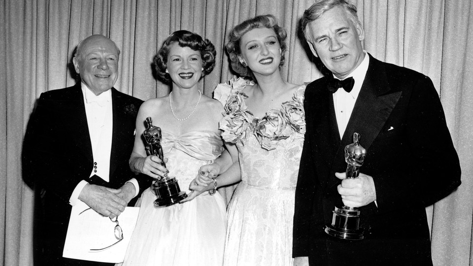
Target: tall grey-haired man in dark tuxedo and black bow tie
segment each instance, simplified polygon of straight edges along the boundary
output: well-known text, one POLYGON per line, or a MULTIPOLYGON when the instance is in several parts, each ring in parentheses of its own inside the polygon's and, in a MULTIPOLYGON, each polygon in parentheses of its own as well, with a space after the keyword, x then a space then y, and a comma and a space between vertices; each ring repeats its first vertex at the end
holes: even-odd
POLYGON ((333 75, 305 90, 306 134, 296 189, 296 265, 432 265, 425 207, 461 183, 458 156, 429 77, 365 52, 356 7, 320 0, 302 30, 333 75), (343 88, 343 89, 339 89, 343 88), (345 179, 344 147, 360 133, 360 175, 345 179), (334 207, 361 211, 363 240, 324 232, 334 207))

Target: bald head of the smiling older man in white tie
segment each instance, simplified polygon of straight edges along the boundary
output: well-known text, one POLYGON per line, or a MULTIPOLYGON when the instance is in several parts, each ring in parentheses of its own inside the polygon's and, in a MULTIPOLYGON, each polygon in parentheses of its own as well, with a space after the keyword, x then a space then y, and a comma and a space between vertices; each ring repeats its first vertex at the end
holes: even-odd
POLYGON ((95 94, 108 91, 118 78, 119 51, 115 43, 102 35, 84 39, 72 59, 82 82, 95 94))

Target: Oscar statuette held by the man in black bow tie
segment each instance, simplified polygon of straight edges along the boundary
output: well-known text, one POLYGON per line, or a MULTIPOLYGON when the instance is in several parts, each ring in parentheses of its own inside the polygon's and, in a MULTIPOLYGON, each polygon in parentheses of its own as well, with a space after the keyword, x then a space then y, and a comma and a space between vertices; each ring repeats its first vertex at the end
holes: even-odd
MULTIPOLYGON (((360 166, 366 156, 366 149, 360 143, 360 134, 353 134, 353 143, 345 146, 346 178, 358 178, 360 166)), ((325 227, 325 233, 340 239, 361 240, 363 228, 360 228, 360 210, 354 207, 335 207, 332 224, 325 227)))

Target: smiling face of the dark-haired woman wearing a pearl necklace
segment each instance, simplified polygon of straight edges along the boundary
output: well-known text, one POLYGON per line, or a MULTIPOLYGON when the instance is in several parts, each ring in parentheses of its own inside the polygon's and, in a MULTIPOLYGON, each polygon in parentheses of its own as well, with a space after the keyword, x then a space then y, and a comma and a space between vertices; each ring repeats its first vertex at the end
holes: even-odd
POLYGON ((167 72, 174 87, 189 89, 197 85, 202 76, 200 51, 180 47, 177 42, 169 45, 167 72))

